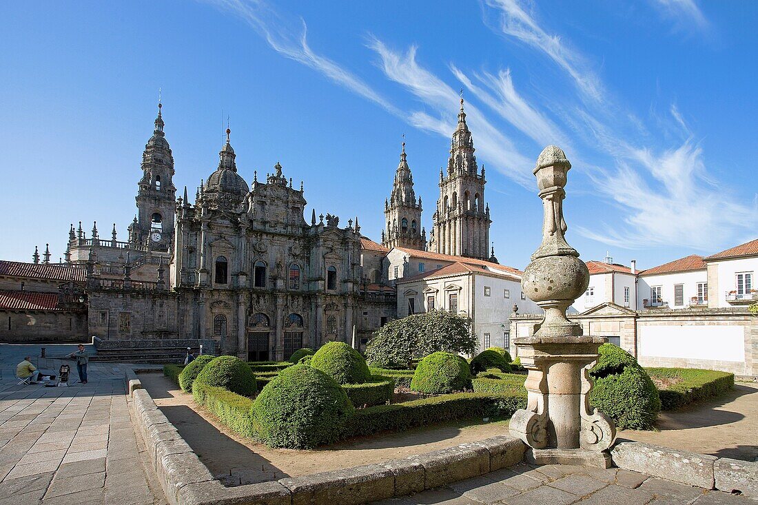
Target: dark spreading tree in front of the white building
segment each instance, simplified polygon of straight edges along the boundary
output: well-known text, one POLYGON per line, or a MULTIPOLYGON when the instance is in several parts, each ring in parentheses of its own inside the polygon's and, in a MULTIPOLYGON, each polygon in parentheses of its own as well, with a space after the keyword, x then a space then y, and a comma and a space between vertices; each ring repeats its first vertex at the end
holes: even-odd
POLYGON ((371 365, 410 367, 412 359, 437 351, 473 354, 477 340, 470 318, 432 310, 379 328, 366 347, 366 357, 371 365))

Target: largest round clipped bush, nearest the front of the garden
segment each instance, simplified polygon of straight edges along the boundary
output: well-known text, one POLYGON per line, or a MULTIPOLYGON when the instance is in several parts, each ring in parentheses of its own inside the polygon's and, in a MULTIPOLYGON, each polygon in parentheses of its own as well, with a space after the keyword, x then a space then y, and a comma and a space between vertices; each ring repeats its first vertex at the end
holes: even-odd
POLYGON ((329 375, 294 365, 266 384, 250 415, 258 437, 269 447, 310 449, 336 440, 353 407, 329 375))

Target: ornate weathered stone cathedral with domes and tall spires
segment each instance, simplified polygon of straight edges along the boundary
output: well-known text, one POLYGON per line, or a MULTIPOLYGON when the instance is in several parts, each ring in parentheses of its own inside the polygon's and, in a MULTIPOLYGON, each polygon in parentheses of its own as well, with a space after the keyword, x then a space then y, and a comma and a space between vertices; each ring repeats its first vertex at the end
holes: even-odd
MULTIPOLYGON (((215 353, 265 361, 287 359, 301 347, 330 340, 362 347, 373 331, 398 317, 398 275, 390 275, 398 270, 390 250, 428 251, 440 261, 465 256, 496 262, 493 252, 487 254, 491 221, 484 167, 479 171, 463 105, 461 100, 446 174, 440 171, 429 240, 402 143, 384 202, 387 227, 380 244, 362 236, 357 217, 340 224, 337 216, 317 216, 314 210, 306 221, 303 183, 293 186, 279 163, 260 180, 257 171, 252 181, 245 180, 229 129, 218 167, 194 199, 186 187, 177 198, 174 157, 158 104, 127 240, 118 240, 116 224, 110 238, 101 236, 97 223, 89 237, 81 222, 70 227, 60 265, 69 273, 61 270, 56 278, 70 277, 66 300, 73 305, 64 309, 86 315, 83 323, 77 319, 77 328, 95 335, 103 349, 201 342, 215 353)), ((35 252, 33 264, 17 265, 27 265, 32 276, 34 265, 52 271, 56 265, 49 256, 45 249, 41 263, 35 252)), ((3 268, 20 271, 11 265, 16 262, 2 263, 8 265, 0 265, 0 284, 3 268)), ((9 275, 8 283, 20 280, 9 275)), ((23 290, 24 282, 20 285, 23 290)), ((8 334, 12 326, 9 318, 8 334)), ((77 328, 70 328, 72 335, 77 328)))

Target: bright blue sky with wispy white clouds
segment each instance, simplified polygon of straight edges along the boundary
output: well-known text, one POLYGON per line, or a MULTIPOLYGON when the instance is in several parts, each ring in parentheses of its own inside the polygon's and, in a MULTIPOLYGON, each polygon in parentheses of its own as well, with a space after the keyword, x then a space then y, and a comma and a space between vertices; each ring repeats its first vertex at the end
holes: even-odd
POLYGON ((758 236, 756 19, 747 0, 3 2, 0 258, 57 260, 77 221, 126 237, 159 88, 180 191, 228 116, 246 180, 279 161, 308 216, 378 239, 405 133, 429 230, 463 88, 501 262, 540 241, 548 144, 583 259, 717 252, 758 236))

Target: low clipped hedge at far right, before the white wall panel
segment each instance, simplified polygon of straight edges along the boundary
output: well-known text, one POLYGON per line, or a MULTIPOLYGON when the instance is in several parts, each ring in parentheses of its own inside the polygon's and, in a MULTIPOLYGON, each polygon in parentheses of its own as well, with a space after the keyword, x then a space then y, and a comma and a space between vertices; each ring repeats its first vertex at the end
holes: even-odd
POLYGON ((689 403, 718 397, 735 387, 734 374, 716 370, 650 368, 645 371, 651 377, 682 379, 678 384, 658 390, 663 410, 678 409, 689 403))

